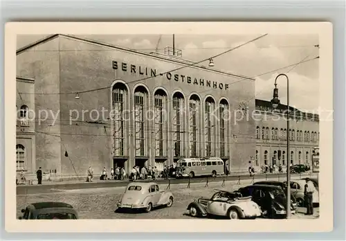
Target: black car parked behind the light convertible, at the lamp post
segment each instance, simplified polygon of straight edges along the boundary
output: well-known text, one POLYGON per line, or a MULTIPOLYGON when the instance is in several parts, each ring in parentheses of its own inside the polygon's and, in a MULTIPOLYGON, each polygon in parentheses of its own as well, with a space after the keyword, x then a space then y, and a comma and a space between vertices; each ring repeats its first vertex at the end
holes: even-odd
MULTIPOLYGON (((286 195, 279 186, 273 185, 251 185, 239 188, 237 192, 243 197, 251 197, 262 210, 263 217, 276 218, 286 216, 286 195)), ((295 209, 291 204, 291 213, 295 209)))

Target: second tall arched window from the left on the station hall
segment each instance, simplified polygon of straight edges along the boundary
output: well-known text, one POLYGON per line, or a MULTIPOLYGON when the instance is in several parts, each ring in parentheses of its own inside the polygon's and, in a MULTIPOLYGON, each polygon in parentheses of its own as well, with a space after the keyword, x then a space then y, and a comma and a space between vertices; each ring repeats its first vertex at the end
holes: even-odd
POLYGON ((147 156, 147 148, 145 148, 145 132, 146 110, 147 110, 147 89, 138 86, 134 92, 134 111, 135 111, 135 130, 136 130, 136 157, 147 156))

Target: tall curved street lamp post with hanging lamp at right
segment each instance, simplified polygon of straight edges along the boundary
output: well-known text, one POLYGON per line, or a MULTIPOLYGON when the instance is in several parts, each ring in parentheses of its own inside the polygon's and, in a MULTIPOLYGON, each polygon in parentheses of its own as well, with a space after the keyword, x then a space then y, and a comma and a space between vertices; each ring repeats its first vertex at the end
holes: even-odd
POLYGON ((275 78, 275 88, 273 91, 273 100, 271 100, 271 104, 273 105, 273 108, 276 109, 277 106, 280 104, 280 100, 279 100, 279 90, 277 89, 277 84, 276 84, 276 80, 277 78, 279 78, 280 76, 284 76, 286 77, 287 80, 287 130, 286 130, 286 141, 287 141, 287 151, 286 151, 286 174, 287 174, 287 193, 286 193, 286 199, 287 199, 287 205, 286 205, 286 218, 289 219, 289 217, 291 216, 291 180, 290 180, 290 159, 289 159, 289 153, 290 153, 290 149, 289 149, 289 77, 287 77, 287 75, 285 75, 284 73, 280 73, 280 75, 277 75, 275 78))

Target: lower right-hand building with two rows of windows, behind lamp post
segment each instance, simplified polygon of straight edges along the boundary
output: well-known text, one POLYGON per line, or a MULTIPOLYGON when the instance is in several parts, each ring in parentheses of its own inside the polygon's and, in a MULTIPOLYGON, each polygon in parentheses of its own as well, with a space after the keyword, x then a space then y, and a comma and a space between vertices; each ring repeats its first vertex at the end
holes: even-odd
POLYGON ((313 148, 319 146, 319 116, 290 108, 289 130, 287 131, 287 106, 271 107, 271 102, 256 100, 256 156, 254 166, 282 164, 286 166, 286 138, 289 135, 291 164, 312 166, 313 148))

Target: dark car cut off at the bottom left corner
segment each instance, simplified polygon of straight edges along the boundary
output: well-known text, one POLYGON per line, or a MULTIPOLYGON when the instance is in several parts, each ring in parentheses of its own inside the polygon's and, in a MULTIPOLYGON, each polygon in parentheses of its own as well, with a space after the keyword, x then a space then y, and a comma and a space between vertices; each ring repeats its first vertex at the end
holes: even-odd
POLYGON ((19 220, 78 220, 73 206, 64 202, 36 202, 21 209, 19 220))

